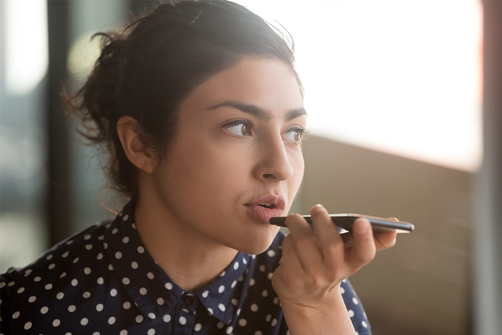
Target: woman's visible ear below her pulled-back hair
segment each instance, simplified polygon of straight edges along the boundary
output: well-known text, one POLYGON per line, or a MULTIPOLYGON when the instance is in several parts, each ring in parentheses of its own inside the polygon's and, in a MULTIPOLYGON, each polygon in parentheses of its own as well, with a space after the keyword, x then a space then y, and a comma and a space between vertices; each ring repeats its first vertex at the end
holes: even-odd
POLYGON ((140 170, 153 173, 155 157, 135 132, 138 122, 132 117, 121 117, 117 122, 117 133, 127 158, 140 170))

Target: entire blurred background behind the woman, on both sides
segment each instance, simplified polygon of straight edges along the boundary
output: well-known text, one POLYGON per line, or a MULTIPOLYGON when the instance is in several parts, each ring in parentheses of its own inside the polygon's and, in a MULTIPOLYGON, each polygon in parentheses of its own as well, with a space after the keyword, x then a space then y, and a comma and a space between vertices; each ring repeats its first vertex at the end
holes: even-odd
MULTIPOLYGON (((492 145, 481 164, 480 1, 238 2, 295 39, 312 136, 292 211, 323 203, 330 212, 415 224, 351 278, 373 333, 502 333, 502 253, 490 211, 499 197, 488 187, 500 160, 488 159, 486 168, 487 155, 502 152, 500 108, 491 103, 502 87, 495 80, 502 78, 495 71, 500 5, 484 2, 491 18, 484 72, 495 79, 484 83, 485 105, 488 86, 492 97, 485 146, 492 145)), ((151 3, 0 0, 0 272, 113 215, 101 205, 112 205, 113 196, 99 152, 75 138, 59 91, 63 81, 85 80, 96 57, 94 32, 123 25, 130 11, 151 3)))

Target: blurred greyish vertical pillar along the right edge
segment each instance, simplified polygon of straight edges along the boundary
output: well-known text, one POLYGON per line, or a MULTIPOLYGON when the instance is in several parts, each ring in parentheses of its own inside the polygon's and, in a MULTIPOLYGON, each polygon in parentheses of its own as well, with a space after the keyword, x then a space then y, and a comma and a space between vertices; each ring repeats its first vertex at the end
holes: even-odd
POLYGON ((474 329, 502 334, 502 1, 485 0, 484 158, 474 207, 474 329))

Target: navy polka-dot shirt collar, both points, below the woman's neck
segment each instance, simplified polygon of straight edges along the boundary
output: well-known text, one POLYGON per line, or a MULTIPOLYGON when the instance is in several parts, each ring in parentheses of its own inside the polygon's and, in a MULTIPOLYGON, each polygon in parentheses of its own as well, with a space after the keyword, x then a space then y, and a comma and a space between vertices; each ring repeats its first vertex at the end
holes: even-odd
MULTIPOLYGON (((152 324, 175 308, 185 293, 157 265, 143 245, 134 224, 132 204, 128 203, 106 225, 103 245, 124 290, 152 324)), ((230 265, 211 283, 195 292, 208 312, 225 324, 231 323, 234 303, 242 291, 242 275, 250 255, 238 252, 230 265), (240 279, 240 280, 239 280, 240 279)))

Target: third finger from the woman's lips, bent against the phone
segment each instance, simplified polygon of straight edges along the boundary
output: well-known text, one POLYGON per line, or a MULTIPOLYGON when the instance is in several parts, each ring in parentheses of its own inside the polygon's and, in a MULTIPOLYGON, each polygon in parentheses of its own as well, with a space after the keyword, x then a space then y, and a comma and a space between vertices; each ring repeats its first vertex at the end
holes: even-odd
POLYGON ((352 229, 354 246, 350 249, 346 261, 352 268, 360 268, 375 257, 376 248, 373 231, 369 221, 365 218, 356 219, 352 229))

